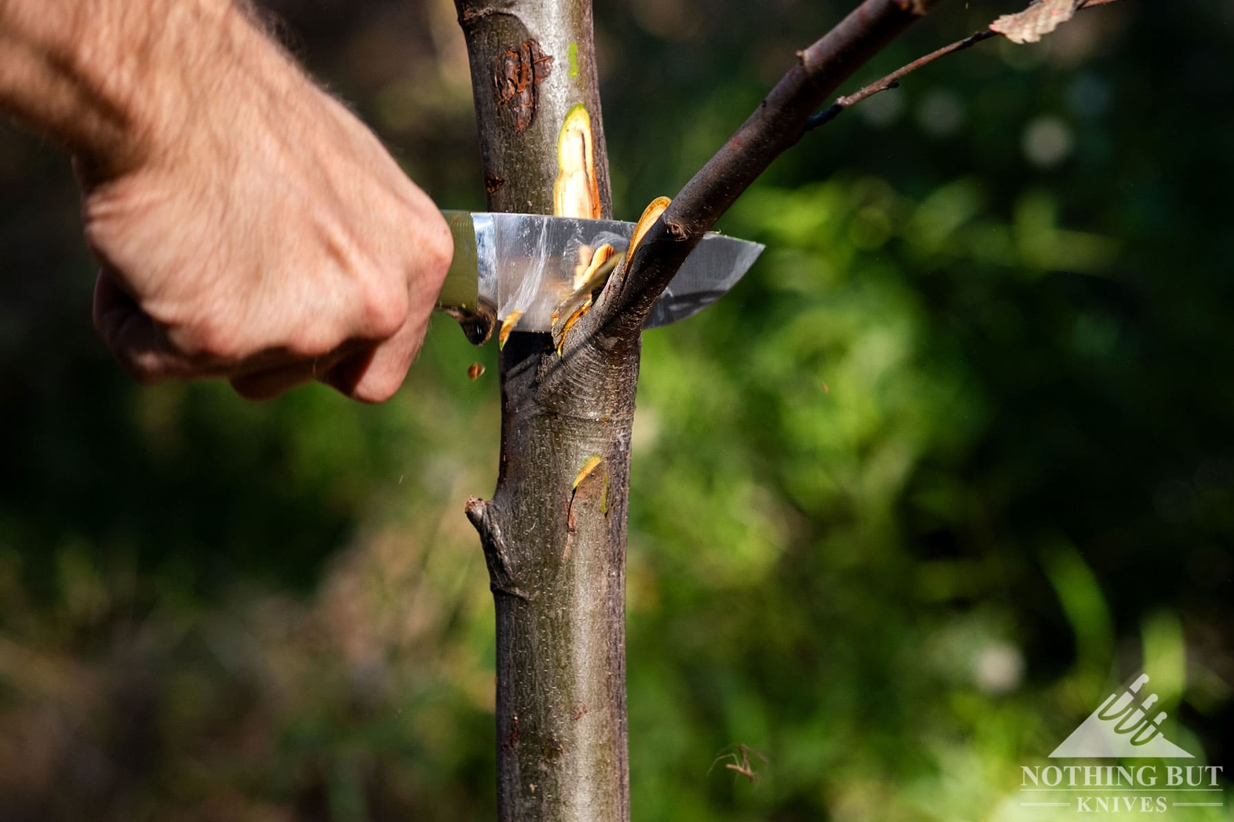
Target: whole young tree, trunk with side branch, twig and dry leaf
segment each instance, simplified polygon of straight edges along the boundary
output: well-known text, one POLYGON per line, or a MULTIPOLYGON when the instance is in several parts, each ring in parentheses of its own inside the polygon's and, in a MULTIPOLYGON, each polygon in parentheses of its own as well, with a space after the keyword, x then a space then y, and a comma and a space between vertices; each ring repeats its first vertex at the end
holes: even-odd
MULTIPOLYGON (((501 457, 473 498, 497 621, 499 817, 619 822, 626 755, 624 561, 643 322, 703 234, 802 134, 938 57, 1002 33, 1030 42, 1085 6, 1037 0, 819 111, 938 5, 865 0, 796 55, 686 184, 568 334, 515 330, 501 352, 501 457)), ((590 0, 457 0, 492 211, 612 216, 590 0)))

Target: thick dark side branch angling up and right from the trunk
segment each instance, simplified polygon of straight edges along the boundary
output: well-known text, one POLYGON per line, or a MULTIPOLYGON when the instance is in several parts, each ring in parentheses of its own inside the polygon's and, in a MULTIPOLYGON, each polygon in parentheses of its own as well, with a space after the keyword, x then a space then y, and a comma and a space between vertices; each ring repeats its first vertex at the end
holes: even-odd
POLYGON ((629 339, 703 234, 771 161, 806 133, 806 122, 844 80, 939 0, 864 0, 830 32, 797 53, 797 64, 685 185, 584 318, 573 343, 592 333, 629 339))

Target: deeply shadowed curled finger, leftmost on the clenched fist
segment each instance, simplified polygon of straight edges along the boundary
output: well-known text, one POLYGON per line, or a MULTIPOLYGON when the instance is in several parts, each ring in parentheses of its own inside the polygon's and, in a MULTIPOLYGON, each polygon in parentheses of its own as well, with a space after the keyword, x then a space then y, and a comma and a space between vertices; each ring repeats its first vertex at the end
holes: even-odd
POLYGON ((99 271, 94 286, 94 327, 135 380, 158 382, 190 368, 169 343, 167 329, 143 312, 106 269, 99 271))

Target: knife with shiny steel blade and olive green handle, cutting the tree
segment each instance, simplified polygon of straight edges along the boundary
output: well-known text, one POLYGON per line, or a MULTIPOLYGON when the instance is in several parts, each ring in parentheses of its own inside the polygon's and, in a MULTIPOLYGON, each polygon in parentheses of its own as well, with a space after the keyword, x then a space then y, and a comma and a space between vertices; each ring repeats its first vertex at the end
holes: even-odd
MULTIPOLYGON (((437 308, 482 345, 497 322, 522 312, 517 330, 549 332, 574 295, 576 269, 610 244, 624 251, 634 223, 545 214, 443 211, 454 261, 437 308)), ((652 307, 645 328, 698 313, 742 279, 763 245, 708 232, 652 307)))

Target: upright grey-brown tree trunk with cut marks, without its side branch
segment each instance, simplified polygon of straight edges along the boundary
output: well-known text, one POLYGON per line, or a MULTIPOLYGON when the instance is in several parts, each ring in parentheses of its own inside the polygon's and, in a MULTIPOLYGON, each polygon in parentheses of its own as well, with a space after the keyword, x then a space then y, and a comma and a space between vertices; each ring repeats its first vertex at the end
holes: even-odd
MULTIPOLYGON (((590 0, 457 0, 492 211, 610 217, 590 0)), ((624 571, 639 339, 501 352, 501 463, 473 499, 497 617, 502 821, 624 822, 624 571), (598 457, 598 462, 595 457, 598 457), (592 466, 590 471, 584 471, 592 466)))

